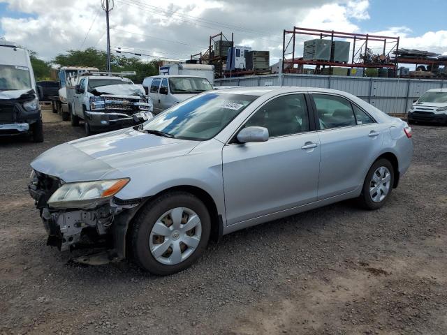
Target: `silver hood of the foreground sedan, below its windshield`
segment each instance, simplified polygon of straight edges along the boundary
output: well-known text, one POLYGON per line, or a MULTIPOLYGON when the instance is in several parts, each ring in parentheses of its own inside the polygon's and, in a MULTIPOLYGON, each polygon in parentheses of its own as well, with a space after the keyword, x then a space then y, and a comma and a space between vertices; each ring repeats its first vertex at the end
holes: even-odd
POLYGON ((103 179, 111 172, 126 177, 126 168, 186 155, 198 143, 126 128, 60 144, 38 156, 31 167, 66 182, 103 179))

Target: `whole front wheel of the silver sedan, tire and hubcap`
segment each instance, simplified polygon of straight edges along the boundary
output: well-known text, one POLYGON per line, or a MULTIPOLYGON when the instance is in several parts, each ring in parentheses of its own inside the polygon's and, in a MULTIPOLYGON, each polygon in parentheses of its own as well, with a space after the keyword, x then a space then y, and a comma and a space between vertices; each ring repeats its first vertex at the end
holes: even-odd
POLYGON ((131 234, 133 257, 152 274, 175 274, 200 258, 210 230, 210 214, 196 196, 166 193, 146 204, 135 218, 131 234))

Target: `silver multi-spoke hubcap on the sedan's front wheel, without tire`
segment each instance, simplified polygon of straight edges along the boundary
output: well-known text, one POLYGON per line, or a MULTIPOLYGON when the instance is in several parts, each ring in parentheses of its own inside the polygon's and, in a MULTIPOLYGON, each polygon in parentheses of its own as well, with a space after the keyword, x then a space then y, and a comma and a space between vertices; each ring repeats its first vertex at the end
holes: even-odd
POLYGON ((177 207, 166 211, 155 222, 149 235, 152 256, 165 265, 175 265, 196 251, 202 236, 202 223, 195 211, 177 207))

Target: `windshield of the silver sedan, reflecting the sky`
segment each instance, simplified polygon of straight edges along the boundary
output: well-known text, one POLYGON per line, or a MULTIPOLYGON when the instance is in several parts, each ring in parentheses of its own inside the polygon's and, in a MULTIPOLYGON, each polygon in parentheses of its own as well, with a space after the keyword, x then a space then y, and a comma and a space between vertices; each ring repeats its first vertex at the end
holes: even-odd
POLYGON ((182 140, 210 140, 256 98, 242 94, 200 94, 170 107, 142 128, 182 140))

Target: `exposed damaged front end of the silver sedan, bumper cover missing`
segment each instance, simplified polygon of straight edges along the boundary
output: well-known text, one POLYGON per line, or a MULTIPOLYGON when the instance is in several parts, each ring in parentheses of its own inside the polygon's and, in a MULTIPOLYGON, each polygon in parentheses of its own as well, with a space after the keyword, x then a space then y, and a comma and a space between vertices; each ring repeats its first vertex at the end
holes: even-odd
POLYGON ((47 245, 60 251, 82 250, 83 254, 73 260, 89 265, 124 260, 129 223, 145 200, 112 198, 94 209, 52 209, 47 201, 61 183, 34 172, 28 186, 48 234, 47 245))

